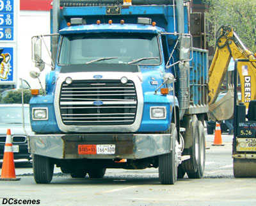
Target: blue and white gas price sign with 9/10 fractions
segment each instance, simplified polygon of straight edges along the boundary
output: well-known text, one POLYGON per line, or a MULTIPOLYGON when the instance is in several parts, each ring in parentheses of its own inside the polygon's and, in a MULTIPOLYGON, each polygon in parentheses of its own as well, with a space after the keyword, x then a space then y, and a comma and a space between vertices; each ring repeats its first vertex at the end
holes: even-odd
POLYGON ((14 40, 14 0, 0 0, 0 41, 14 40))

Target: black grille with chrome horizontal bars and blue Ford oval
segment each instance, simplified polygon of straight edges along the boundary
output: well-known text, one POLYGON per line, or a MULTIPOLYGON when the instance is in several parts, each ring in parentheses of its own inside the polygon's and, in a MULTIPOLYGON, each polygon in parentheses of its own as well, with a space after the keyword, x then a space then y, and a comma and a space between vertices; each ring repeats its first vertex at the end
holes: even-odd
POLYGON ((60 113, 65 125, 130 125, 136 109, 132 81, 74 80, 61 85, 60 113))

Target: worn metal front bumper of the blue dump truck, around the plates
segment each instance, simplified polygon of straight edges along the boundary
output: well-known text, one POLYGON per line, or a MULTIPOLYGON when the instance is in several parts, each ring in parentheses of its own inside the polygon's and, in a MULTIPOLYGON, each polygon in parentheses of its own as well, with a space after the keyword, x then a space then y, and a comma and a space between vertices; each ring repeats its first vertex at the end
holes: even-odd
POLYGON ((143 159, 172 150, 170 134, 48 134, 29 136, 31 154, 56 159, 143 159), (78 154, 78 145, 116 145, 115 154, 78 154))

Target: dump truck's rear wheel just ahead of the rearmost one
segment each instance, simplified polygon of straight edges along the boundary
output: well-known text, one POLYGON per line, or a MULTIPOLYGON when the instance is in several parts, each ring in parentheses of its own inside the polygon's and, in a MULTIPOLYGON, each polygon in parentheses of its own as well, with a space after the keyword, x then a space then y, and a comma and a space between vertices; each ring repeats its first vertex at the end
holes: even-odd
POLYGON ((192 178, 193 174, 198 170, 200 150, 199 150, 199 125, 196 116, 193 116, 193 121, 191 123, 191 135, 192 146, 189 148, 190 159, 183 162, 184 171, 188 174, 188 177, 192 178))

